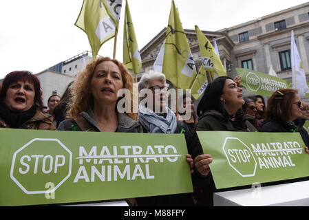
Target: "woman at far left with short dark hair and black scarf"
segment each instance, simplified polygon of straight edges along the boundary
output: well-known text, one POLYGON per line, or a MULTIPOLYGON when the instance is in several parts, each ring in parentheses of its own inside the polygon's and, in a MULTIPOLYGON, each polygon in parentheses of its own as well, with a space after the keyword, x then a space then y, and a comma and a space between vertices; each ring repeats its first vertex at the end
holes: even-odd
POLYGON ((55 130, 52 117, 43 113, 39 78, 28 71, 11 72, 0 93, 0 127, 55 130))

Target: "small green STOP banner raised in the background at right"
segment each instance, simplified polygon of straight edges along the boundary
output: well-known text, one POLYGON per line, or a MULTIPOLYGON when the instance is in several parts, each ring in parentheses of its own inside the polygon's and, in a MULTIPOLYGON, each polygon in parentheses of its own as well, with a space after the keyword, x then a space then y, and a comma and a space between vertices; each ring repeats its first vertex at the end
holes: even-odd
POLYGON ((262 74, 252 69, 236 68, 238 76, 242 77, 242 85, 247 91, 261 96, 271 96, 277 89, 288 88, 286 80, 262 74))

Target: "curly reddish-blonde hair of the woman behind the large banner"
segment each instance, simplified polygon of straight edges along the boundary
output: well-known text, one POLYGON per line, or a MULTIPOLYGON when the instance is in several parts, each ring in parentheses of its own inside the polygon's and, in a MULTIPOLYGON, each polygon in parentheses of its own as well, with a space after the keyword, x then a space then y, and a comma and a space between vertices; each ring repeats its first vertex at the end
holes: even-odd
MULTIPOLYGON (((94 69, 96 69, 96 66, 100 63, 103 63, 105 61, 111 61, 115 63, 118 68, 120 69, 121 76, 122 76, 122 83, 123 88, 129 89, 131 91, 131 112, 126 113, 130 118, 133 120, 137 120, 137 114, 133 113, 133 77, 127 70, 127 67, 117 61, 116 59, 111 59, 109 57, 99 56, 98 58, 90 60, 86 67, 81 70, 80 74, 78 74, 76 80, 74 80, 74 83, 72 84, 72 102, 69 105, 68 110, 68 118, 77 118, 78 115, 85 111, 89 106, 93 106, 94 104, 94 98, 92 94, 90 93, 90 83, 92 80, 92 76, 94 75, 94 69)), ((127 98, 127 97, 126 97, 127 98)), ((117 104, 116 104, 117 106, 117 104)), ((116 109, 115 109, 116 111, 116 109)))

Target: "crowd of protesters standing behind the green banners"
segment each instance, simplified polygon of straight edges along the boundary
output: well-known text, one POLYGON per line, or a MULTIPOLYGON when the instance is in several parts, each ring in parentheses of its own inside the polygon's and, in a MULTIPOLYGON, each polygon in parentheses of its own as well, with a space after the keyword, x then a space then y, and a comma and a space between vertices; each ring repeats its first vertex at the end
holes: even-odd
MULTIPOLYGON (((125 65, 116 59, 100 56, 87 63, 76 79, 67 85, 62 97, 50 96, 47 101, 49 110, 44 112, 39 79, 28 71, 11 72, 0 85, 0 127, 183 133, 194 192, 130 198, 127 199, 130 206, 213 205, 213 193, 218 191, 209 168, 213 158, 203 151, 196 131, 299 132, 309 146, 309 135, 303 128, 309 120, 309 105, 301 102, 295 89, 275 91, 266 105, 263 96, 243 97, 239 77, 233 80, 222 76, 207 85, 197 109, 191 95, 180 96, 178 104, 182 104, 186 111, 176 114, 168 105, 169 85, 164 74, 150 72, 140 78, 138 89, 149 89, 152 103, 141 99, 138 113, 120 113, 117 108, 120 98, 129 100, 133 110, 132 93, 117 96, 120 89, 133 91, 133 82, 125 65), (189 114, 189 118, 184 119, 184 114, 189 114)), ((306 152, 309 152, 307 147, 306 152)))

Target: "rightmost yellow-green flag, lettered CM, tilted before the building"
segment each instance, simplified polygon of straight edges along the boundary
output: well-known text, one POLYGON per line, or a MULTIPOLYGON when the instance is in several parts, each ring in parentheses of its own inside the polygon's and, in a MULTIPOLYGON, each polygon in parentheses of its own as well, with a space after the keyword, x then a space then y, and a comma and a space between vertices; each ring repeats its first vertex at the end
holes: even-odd
POLYGON ((222 65, 220 56, 215 52, 215 47, 213 47, 209 39, 206 38, 197 25, 195 25, 195 32, 200 45, 202 66, 191 87, 191 92, 193 98, 198 100, 206 89, 209 80, 214 80, 219 76, 226 76, 226 70, 222 65))

